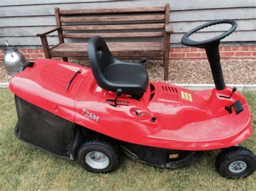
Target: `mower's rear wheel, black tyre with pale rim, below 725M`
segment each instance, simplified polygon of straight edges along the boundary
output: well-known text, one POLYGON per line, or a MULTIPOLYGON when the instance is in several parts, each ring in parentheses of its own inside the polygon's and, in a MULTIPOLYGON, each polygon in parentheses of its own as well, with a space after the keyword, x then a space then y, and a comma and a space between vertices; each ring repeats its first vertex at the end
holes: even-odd
MULTIPOLYGON (((89 140, 78 148, 78 163, 85 168, 87 171, 94 173, 109 173, 116 170, 119 166, 119 151, 118 147, 112 145, 111 143, 103 140, 89 140), (102 166, 102 164, 97 165, 97 160, 94 153, 102 153, 103 159, 107 158, 108 162, 102 162, 107 166, 102 166), (90 157, 92 155, 92 157, 90 157), (95 157, 93 159, 93 157, 95 157), (94 163, 93 163, 94 162, 94 163)), ((100 158, 100 157, 98 157, 100 158)), ((103 160, 103 159, 98 159, 103 160)))

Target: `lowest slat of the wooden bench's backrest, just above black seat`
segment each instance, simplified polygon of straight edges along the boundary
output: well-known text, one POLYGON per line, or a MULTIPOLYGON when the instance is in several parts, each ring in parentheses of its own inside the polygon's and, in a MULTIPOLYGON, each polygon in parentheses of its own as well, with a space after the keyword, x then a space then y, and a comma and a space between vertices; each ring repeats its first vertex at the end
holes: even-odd
POLYGON ((124 37, 164 37, 164 32, 123 32, 123 33, 71 33, 63 34, 63 38, 90 38, 100 36, 103 38, 124 38, 124 37))

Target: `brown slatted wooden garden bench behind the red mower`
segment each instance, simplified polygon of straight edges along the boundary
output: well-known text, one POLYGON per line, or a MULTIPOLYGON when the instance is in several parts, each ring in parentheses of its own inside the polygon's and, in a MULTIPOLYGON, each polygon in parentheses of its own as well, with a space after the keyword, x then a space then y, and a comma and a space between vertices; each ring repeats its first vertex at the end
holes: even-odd
POLYGON ((55 8, 57 26, 37 34, 41 37, 45 58, 87 57, 87 40, 99 35, 107 41, 117 58, 164 60, 164 79, 168 80, 169 47, 172 27, 170 5, 149 8, 80 9, 55 8), (49 47, 47 34, 58 32, 59 43, 49 47), (65 40, 64 40, 65 39, 65 40))

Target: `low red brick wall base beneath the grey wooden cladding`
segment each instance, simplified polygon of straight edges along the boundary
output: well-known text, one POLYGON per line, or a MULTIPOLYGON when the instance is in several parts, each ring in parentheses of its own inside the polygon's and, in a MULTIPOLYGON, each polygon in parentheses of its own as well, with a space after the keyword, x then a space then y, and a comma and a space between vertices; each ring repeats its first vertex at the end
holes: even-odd
MULTIPOLYGON (((256 46, 220 46, 221 59, 256 59, 256 46)), ((43 49, 19 49, 28 60, 44 58, 43 49)), ((0 50, 0 60, 4 51, 0 50)), ((195 47, 170 48, 170 59, 178 60, 205 60, 204 49, 195 47)))

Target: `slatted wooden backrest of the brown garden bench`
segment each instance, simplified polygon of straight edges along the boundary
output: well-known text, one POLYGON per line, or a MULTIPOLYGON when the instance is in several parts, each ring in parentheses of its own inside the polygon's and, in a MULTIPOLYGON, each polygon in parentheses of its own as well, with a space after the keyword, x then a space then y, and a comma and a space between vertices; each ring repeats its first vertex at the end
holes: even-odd
MULTIPOLYGON (((100 36, 107 41, 122 38, 122 41, 164 41, 165 23, 169 23, 170 5, 144 8, 115 9, 55 9, 57 26, 63 34, 59 38, 86 41, 100 36), (168 17, 168 19, 167 19, 168 17), (84 40, 82 40, 84 39, 84 40)), ((73 40, 76 41, 76 40, 73 40)), ((118 40, 116 40, 118 41, 118 40)))

